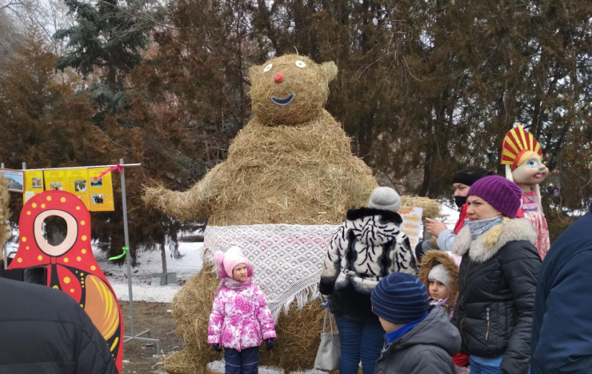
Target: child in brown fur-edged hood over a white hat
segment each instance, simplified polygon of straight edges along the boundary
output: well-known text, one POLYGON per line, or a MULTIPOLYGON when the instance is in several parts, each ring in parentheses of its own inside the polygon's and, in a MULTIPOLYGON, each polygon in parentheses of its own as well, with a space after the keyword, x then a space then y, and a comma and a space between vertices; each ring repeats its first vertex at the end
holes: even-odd
MULTIPOLYGON (((452 318, 458 299, 458 265, 447 253, 427 251, 421 259, 419 280, 426 285, 430 310, 442 306, 452 318)), ((469 374, 469 356, 459 353, 452 357, 458 374, 469 374)))

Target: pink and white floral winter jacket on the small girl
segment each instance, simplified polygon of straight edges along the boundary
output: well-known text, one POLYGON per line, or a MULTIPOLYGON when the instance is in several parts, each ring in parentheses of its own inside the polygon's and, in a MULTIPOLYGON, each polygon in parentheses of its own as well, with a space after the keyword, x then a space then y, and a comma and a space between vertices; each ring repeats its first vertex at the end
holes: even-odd
POLYGON ((251 283, 241 291, 220 288, 210 314, 208 344, 240 352, 275 337, 274 319, 259 286, 251 283))

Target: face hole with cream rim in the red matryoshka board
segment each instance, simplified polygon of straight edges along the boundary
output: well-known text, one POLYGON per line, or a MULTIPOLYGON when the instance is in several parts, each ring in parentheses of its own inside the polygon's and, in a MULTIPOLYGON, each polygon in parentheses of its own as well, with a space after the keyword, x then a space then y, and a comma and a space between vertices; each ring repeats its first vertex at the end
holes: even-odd
POLYGON ((78 223, 68 212, 46 210, 36 217, 33 234, 43 253, 48 256, 61 256, 74 246, 78 236, 78 223))

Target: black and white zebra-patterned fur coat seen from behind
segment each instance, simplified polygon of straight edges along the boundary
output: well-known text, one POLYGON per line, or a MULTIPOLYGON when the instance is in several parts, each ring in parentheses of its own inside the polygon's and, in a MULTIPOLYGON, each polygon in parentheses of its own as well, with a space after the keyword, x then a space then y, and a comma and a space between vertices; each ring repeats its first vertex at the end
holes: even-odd
POLYGON ((389 210, 348 211, 329 243, 320 277, 320 293, 331 300, 331 312, 350 320, 377 320, 370 294, 384 276, 416 274, 409 238, 400 231, 403 220, 389 210))

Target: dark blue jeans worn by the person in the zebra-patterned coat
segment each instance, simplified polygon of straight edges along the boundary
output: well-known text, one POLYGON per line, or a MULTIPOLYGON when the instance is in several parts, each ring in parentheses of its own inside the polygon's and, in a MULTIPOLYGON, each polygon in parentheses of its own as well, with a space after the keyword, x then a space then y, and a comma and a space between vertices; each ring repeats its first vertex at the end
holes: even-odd
POLYGON ((380 322, 361 322, 335 317, 339 340, 341 341, 341 358, 339 374, 357 374, 359 362, 364 374, 374 373, 376 360, 384 347, 384 330, 380 322))

